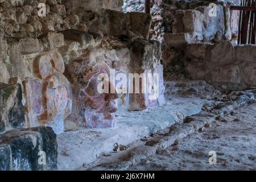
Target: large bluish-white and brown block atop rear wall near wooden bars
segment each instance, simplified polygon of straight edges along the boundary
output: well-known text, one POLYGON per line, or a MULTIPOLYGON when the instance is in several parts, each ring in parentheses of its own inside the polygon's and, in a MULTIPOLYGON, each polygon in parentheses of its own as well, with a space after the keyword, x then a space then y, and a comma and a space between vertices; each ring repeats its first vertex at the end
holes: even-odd
MULTIPOLYGON (((183 4, 184 7, 179 4, 178 10, 174 14, 172 32, 174 34, 188 32, 196 42, 230 40, 232 38, 231 24, 233 27, 237 27, 237 22, 234 22, 234 18, 232 18, 236 15, 230 13, 226 2, 215 3, 217 5, 216 16, 209 14, 211 9, 209 2, 187 2, 183 4)), ((166 10, 166 12, 168 11, 166 10)), ((171 23, 172 20, 167 20, 167 22, 171 23)))

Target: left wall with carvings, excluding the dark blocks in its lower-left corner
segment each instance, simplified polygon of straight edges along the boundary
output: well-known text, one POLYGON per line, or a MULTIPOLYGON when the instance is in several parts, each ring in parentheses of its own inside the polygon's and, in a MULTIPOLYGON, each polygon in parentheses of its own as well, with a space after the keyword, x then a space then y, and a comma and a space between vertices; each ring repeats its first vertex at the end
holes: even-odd
MULTIPOLYGON (((99 65, 95 73, 106 64, 106 70, 115 69, 126 75, 159 74, 160 97, 148 101, 148 94, 119 94, 118 103, 129 110, 144 110, 164 103, 160 44, 148 41, 151 16, 102 9, 118 9, 121 5, 120 1, 72 1, 72 6, 71 1, 55 0, 0 3, 0 82, 9 84, 10 80, 16 80, 14 83, 21 85, 24 127, 50 126, 56 133, 62 133, 65 120, 75 120, 77 113, 94 107, 91 98, 85 106, 88 98, 80 97, 80 92, 89 85, 88 81, 80 81, 81 77, 90 80, 93 76, 86 74, 92 68, 90 65, 99 65), (46 16, 39 14, 42 10, 39 3, 45 3, 46 16), (82 66, 74 65, 78 60, 82 66), (83 68, 80 73, 73 69, 76 66, 83 68)), ((80 113, 78 126, 114 126, 110 114, 114 109, 109 109, 114 101, 108 100, 108 95, 104 97, 98 98, 104 104, 96 113, 101 115, 104 110, 103 115, 110 123, 103 119, 104 125, 89 124, 86 118, 90 117, 80 113)))

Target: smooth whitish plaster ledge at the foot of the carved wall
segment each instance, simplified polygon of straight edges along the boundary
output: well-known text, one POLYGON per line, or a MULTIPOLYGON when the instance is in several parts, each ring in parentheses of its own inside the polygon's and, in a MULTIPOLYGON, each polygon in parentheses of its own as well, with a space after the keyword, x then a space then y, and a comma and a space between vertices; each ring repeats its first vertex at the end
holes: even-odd
POLYGON ((83 129, 57 136, 59 170, 79 169, 96 160, 103 152, 111 152, 114 143, 129 144, 150 133, 166 129, 188 115, 201 111, 206 100, 173 98, 163 106, 145 111, 117 111, 117 126, 113 129, 83 129))

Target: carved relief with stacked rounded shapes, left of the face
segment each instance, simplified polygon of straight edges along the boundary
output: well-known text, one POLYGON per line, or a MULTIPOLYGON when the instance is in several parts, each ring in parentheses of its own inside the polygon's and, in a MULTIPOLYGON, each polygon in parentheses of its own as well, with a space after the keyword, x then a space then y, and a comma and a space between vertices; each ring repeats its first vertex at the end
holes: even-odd
POLYGON ((28 127, 51 126, 64 131, 64 119, 72 109, 71 85, 64 73, 64 62, 57 52, 40 56, 34 62, 37 78, 24 82, 28 127))

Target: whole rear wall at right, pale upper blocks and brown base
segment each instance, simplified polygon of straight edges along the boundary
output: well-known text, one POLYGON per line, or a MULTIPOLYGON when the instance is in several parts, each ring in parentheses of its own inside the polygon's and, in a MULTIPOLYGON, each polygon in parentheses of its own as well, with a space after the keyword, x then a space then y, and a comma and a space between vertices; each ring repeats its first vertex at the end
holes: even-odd
MULTIPOLYGON (((162 41, 165 81, 205 80, 220 90, 255 86, 255 46, 236 45, 240 12, 229 9, 240 2, 151 1, 160 26, 152 23, 150 38, 162 41)), ((125 1, 123 9, 143 11, 144 1, 125 1)))

